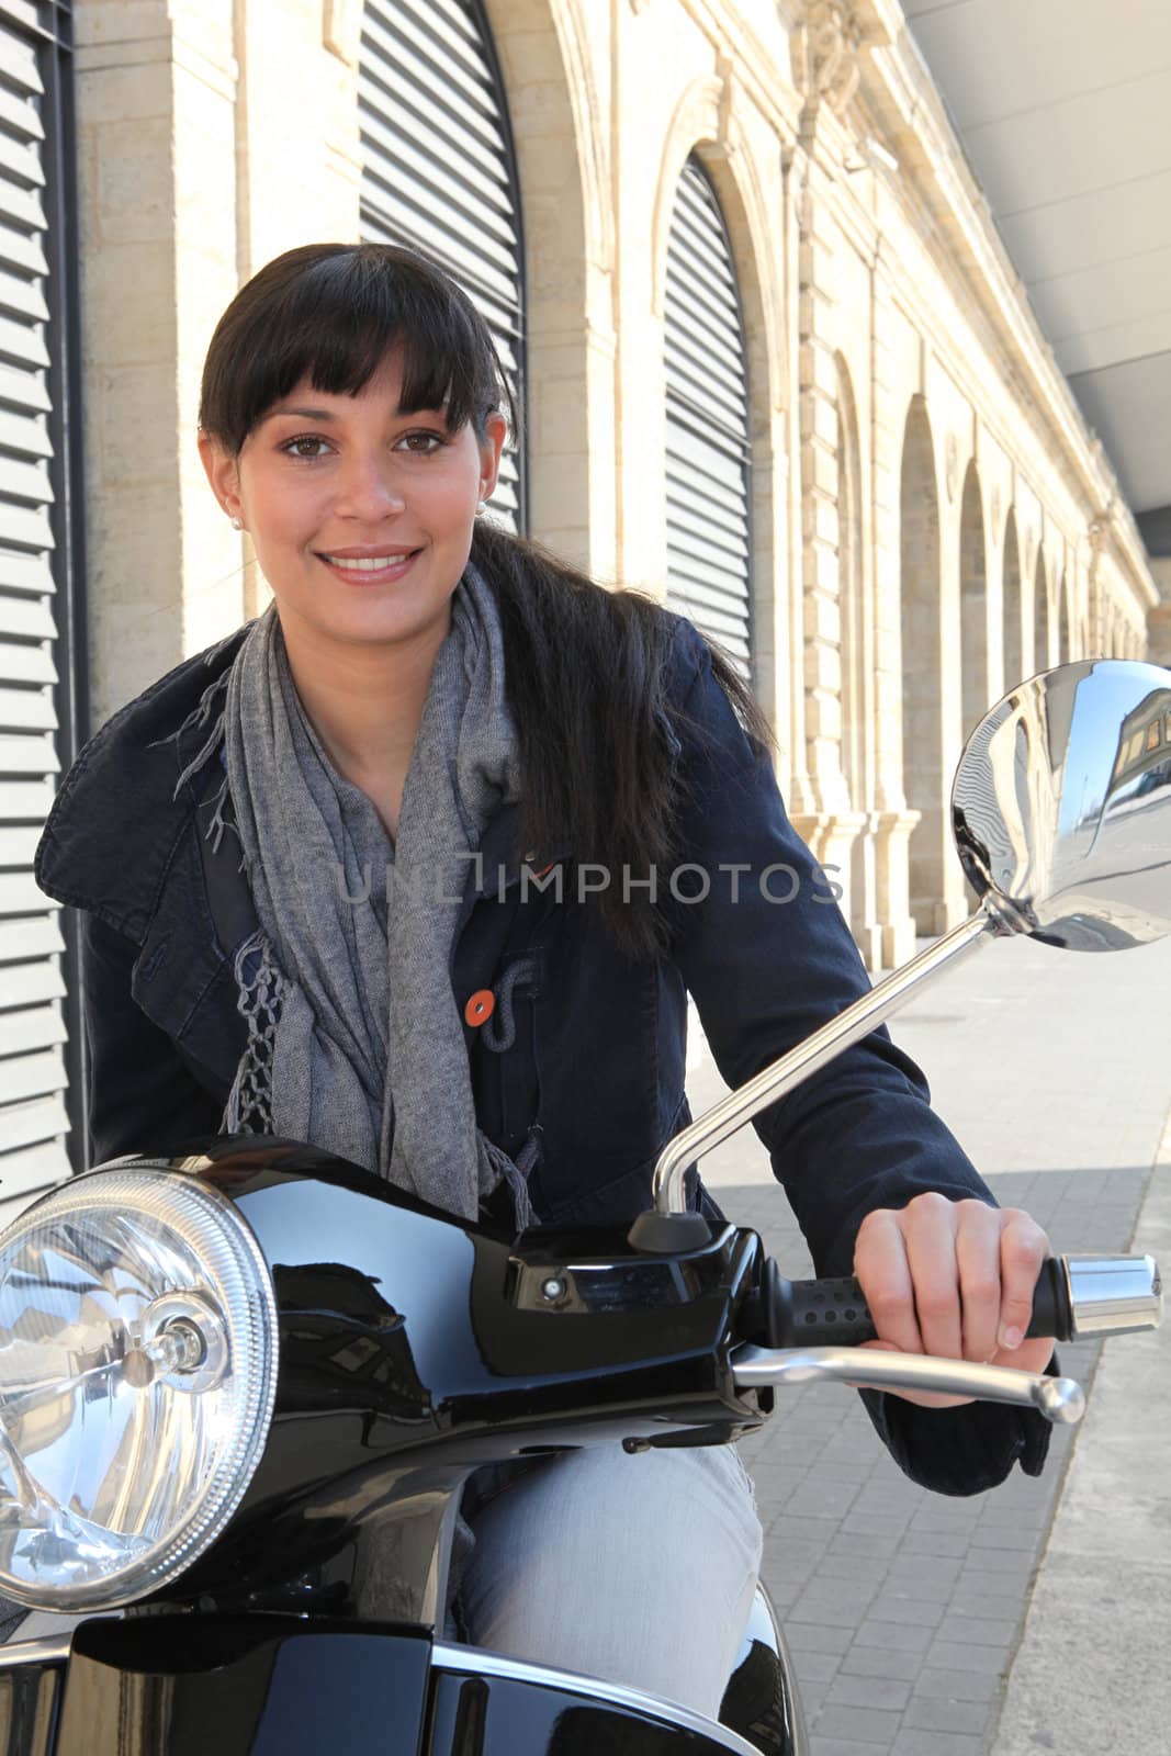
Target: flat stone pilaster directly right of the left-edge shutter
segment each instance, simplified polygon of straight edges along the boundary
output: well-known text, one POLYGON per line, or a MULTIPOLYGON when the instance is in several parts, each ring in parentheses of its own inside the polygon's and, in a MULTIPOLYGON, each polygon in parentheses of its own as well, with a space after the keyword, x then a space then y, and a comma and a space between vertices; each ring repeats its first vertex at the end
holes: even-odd
POLYGON ((239 544, 195 492, 191 421, 198 337, 237 284, 232 12, 74 14, 95 727, 241 616, 239 544))

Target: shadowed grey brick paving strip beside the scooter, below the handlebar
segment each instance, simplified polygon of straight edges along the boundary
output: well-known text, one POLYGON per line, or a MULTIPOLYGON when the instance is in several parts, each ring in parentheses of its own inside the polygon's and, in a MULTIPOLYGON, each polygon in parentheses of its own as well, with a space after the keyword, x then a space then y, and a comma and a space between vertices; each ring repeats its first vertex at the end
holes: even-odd
MULTIPOLYGON (((1146 1169, 988 1177, 1055 1250, 1125 1250, 1146 1169)), ((760 1231, 785 1273, 811 1273, 778 1189, 722 1185, 723 1210, 760 1231)), ((1060 1350, 1092 1384, 1101 1347, 1060 1350)), ((1059 1500, 1071 1429, 1039 1479, 950 1498, 916 1487, 878 1442, 858 1398, 808 1385, 778 1398, 743 1445, 765 1526, 764 1579, 785 1624, 811 1756, 985 1756, 1059 1500)))

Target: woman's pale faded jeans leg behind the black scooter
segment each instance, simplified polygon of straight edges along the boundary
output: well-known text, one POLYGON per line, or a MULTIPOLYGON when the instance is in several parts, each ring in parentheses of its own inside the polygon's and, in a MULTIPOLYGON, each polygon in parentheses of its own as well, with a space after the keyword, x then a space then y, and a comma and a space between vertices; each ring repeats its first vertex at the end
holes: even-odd
POLYGON ((732 1445, 565 1452, 471 1526, 460 1603, 472 1645, 716 1717, 764 1544, 732 1445))

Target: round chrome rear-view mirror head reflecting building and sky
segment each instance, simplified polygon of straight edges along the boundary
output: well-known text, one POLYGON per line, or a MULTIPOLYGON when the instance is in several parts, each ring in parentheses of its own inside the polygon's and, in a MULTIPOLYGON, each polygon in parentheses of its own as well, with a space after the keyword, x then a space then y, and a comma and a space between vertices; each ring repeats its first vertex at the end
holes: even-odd
POLYGON ((1081 952, 1171 932, 1171 671, 1099 658, 1020 683, 964 752, 952 822, 1006 931, 1081 952))

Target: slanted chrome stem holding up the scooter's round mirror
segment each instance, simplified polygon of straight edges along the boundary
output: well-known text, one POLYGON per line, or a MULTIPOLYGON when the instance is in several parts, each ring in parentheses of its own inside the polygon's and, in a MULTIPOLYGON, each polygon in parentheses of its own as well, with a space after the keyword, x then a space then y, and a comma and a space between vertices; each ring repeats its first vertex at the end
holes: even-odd
POLYGON ((913 999, 925 982, 930 982, 941 969, 966 957, 976 945, 988 938, 1011 932, 1013 927, 997 917, 987 904, 974 915, 962 920, 959 927, 946 932, 925 952, 913 957, 902 969, 895 969, 883 982, 862 994, 851 1006, 839 1011, 836 1018, 808 1036, 804 1043, 792 1048, 779 1061, 771 1062, 748 1080, 746 1085, 729 1092, 711 1110, 704 1110, 683 1133, 669 1140, 655 1164, 655 1208, 658 1213, 686 1212, 686 1194, 683 1178, 690 1164, 700 1154, 711 1152, 737 1127, 750 1122, 758 1110, 765 1110, 779 1098, 787 1098, 794 1087, 811 1075, 820 1073, 834 1055, 851 1043, 867 1036, 874 1026, 883 1024, 892 1013, 913 999))

